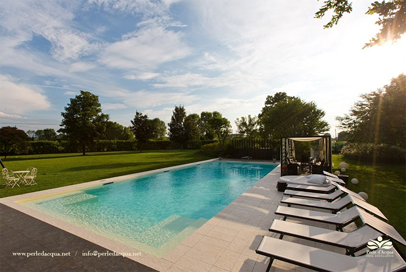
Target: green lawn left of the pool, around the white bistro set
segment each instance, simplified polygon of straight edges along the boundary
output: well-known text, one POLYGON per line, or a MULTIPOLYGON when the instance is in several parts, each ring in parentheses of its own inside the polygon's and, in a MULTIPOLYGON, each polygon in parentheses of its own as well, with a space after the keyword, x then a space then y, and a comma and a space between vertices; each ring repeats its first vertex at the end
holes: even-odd
MULTIPOLYGON (((57 188, 93 180, 139 173, 164 167, 193 163, 210 159, 194 155, 196 150, 155 150, 97 152, 82 156, 81 153, 43 154, 9 156, 3 160, 6 168, 13 171, 26 170, 33 166, 38 169, 38 185, 4 185, 0 188, 0 197, 9 197, 50 188, 57 188)), ((4 181, 2 180, 2 184, 4 181)))

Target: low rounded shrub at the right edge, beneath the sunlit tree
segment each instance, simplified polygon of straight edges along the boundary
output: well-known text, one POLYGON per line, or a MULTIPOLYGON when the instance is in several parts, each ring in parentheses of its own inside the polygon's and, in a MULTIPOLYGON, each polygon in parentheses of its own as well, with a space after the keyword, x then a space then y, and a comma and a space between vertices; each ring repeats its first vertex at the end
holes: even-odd
POLYGON ((376 152, 376 161, 382 163, 405 163, 406 150, 399 146, 389 146, 388 144, 380 143, 353 143, 344 146, 341 150, 347 158, 353 158, 359 161, 371 162, 374 159, 376 152))

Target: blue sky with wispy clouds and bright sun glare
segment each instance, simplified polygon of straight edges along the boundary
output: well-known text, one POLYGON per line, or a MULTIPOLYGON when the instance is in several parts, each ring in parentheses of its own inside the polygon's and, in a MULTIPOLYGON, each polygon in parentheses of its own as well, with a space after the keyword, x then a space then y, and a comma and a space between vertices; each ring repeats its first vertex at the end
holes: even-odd
POLYGON ((360 95, 406 73, 406 38, 362 49, 379 30, 354 1, 337 26, 315 19, 316 0, 2 0, 0 126, 59 129, 80 90, 99 96, 110 120, 135 111, 167 124, 220 111, 230 120, 261 112, 286 92, 336 116, 360 95))

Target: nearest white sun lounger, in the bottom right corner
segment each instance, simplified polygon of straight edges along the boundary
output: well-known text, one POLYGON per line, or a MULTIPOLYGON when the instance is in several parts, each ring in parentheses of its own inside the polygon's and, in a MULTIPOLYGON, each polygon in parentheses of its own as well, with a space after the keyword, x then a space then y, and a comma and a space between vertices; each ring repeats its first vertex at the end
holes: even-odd
POLYGON ((266 271, 274 259, 292 263, 317 271, 399 271, 406 267, 405 261, 394 248, 391 257, 352 257, 320 248, 296 244, 281 239, 263 236, 257 254, 270 257, 266 271))

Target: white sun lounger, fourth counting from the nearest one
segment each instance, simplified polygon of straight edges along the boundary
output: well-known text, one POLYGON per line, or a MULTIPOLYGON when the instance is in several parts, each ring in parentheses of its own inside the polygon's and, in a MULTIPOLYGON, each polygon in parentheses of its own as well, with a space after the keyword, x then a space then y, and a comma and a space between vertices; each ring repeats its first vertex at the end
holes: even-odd
POLYGON ((352 204, 352 201, 350 196, 346 195, 345 197, 340 198, 334 202, 303 199, 297 197, 283 197, 281 203, 287 204, 288 207, 292 205, 297 205, 303 207, 330 210, 332 213, 336 214, 339 210, 342 210, 343 208, 346 208, 347 206, 352 204))

